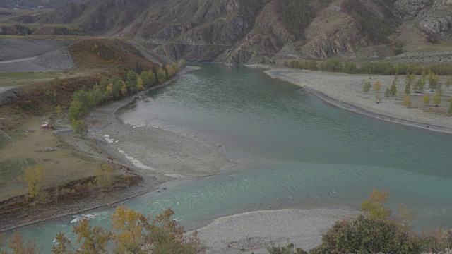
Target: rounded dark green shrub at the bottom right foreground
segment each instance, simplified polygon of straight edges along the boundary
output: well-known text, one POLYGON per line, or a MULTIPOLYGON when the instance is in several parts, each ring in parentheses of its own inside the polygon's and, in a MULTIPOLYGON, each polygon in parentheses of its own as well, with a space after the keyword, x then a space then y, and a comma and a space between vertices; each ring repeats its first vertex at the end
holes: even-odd
POLYGON ((360 215, 336 222, 310 253, 421 253, 421 242, 395 222, 360 215))

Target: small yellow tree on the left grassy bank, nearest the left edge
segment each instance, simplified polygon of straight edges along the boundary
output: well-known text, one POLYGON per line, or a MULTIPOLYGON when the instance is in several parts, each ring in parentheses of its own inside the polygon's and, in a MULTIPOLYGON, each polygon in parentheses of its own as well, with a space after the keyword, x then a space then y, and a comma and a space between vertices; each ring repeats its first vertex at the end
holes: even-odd
POLYGON ((47 193, 42 190, 42 186, 44 185, 42 166, 26 169, 19 177, 19 180, 27 183, 25 198, 32 201, 32 205, 37 205, 46 200, 47 193))

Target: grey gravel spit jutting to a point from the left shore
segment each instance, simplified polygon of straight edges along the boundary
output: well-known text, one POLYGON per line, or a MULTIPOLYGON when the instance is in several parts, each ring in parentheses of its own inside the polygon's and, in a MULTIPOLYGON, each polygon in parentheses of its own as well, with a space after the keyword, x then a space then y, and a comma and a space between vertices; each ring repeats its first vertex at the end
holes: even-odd
POLYGON ((16 214, 17 219, 15 217, 1 220, 0 232, 81 214, 99 207, 119 205, 124 200, 156 191, 160 184, 167 181, 215 174, 225 167, 226 163, 230 163, 218 147, 206 140, 185 137, 158 128, 136 128, 122 123, 117 117, 117 110, 139 99, 145 92, 169 85, 189 71, 198 69, 187 66, 176 77, 162 85, 95 109, 85 117, 85 121, 90 124, 87 138, 74 136, 69 126, 64 123, 59 123, 59 130, 54 132, 61 143, 74 153, 95 162, 106 162, 112 158, 115 163, 136 171, 143 181, 136 186, 111 190, 77 202, 59 202, 57 205, 39 206, 24 214, 16 214))

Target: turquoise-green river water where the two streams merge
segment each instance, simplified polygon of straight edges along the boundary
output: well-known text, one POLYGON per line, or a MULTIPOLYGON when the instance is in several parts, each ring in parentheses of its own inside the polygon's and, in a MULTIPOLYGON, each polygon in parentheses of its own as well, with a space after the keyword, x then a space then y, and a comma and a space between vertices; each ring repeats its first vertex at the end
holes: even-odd
MULTIPOLYGON (((338 109, 299 87, 244 66, 201 65, 121 111, 125 123, 209 138, 239 162, 198 181, 126 202, 143 213, 167 207, 192 228, 250 210, 359 207, 372 188, 388 205, 415 210, 415 228, 452 226, 452 135, 338 109)), ((110 210, 94 212, 108 224, 110 210)), ((42 246, 73 218, 21 229, 42 246)), ((73 224, 72 224, 73 225, 73 224)), ((73 236, 72 236, 73 237, 73 236)))

